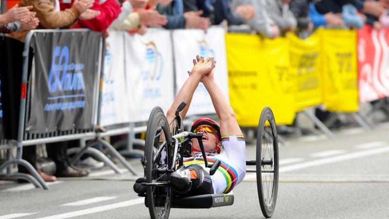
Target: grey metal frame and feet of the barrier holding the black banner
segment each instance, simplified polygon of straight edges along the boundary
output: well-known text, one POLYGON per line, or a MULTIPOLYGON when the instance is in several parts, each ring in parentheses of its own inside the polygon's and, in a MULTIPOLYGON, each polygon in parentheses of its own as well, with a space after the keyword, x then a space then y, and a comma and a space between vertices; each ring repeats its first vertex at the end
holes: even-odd
MULTIPOLYGON (((99 128, 86 128, 86 129, 70 129, 70 130, 57 130, 57 131, 51 131, 51 132, 45 132, 45 133, 35 133, 35 132, 28 132, 26 130, 27 124, 30 118, 30 101, 31 101, 31 84, 32 79, 31 76, 28 78, 28 61, 29 61, 29 50, 30 50, 30 43, 34 36, 36 36, 35 33, 60 33, 60 32, 88 32, 87 29, 72 29, 72 30, 34 30, 30 31, 29 34, 26 37, 26 41, 24 44, 24 51, 23 51, 23 72, 22 72, 22 82, 21 82, 21 88, 22 88, 22 95, 20 98, 20 110, 19 110, 19 124, 18 124, 18 134, 16 140, 2 140, 2 144, 0 145, 0 148, 6 148, 7 151, 7 161, 0 165, 0 171, 7 168, 7 173, 0 175, 0 178, 5 179, 24 179, 27 180, 35 185, 35 187, 43 187, 44 189, 49 189, 47 184, 43 181, 43 179, 39 176, 35 168, 28 163, 27 161, 22 159, 22 152, 23 152, 23 146, 31 146, 31 145, 37 145, 37 144, 47 144, 47 143, 53 143, 53 142, 62 142, 62 141, 70 141, 70 140, 80 140, 80 144, 82 147, 80 148, 70 148, 70 152, 78 152, 76 156, 73 157, 71 160, 71 164, 74 164, 84 153, 92 154, 98 158, 100 158, 103 162, 105 162, 108 166, 110 166, 112 169, 114 169, 117 173, 120 173, 119 169, 115 164, 113 164, 102 152, 90 148, 90 146, 94 146, 96 144, 101 144, 105 146, 108 151, 116 158, 119 159, 119 161, 134 175, 136 175, 135 169, 128 164, 122 155, 118 153, 118 151, 115 150, 113 146, 111 146, 108 142, 103 140, 103 137, 111 136, 111 135, 117 135, 122 133, 129 133, 129 131, 132 131, 132 128, 113 128, 111 130, 108 130, 105 133, 101 133, 99 128), (25 95, 23 95, 23 92, 25 95), (85 144, 86 140, 93 141, 89 143, 88 145, 85 144), (17 155, 16 157, 12 157, 11 149, 17 147, 17 155), (23 165, 28 169, 28 171, 31 173, 24 174, 24 173, 13 173, 11 171, 11 165, 13 164, 19 164, 23 165)), ((102 66, 104 65, 102 61, 102 57, 104 57, 104 50, 103 50, 103 39, 100 39, 100 50, 99 50, 99 77, 102 77, 102 66)), ((99 86, 98 86, 99 87, 99 86)), ((101 88, 98 93, 94 94, 94 98, 98 98, 97 104, 94 107, 97 107, 97 113, 100 113, 101 108, 101 88)), ((94 110, 96 113, 96 110, 94 110)), ((94 116, 96 118, 96 116, 94 116)), ((100 119, 99 116, 97 116, 97 124, 99 124, 100 119)), ((68 151, 68 152, 69 152, 68 151)))

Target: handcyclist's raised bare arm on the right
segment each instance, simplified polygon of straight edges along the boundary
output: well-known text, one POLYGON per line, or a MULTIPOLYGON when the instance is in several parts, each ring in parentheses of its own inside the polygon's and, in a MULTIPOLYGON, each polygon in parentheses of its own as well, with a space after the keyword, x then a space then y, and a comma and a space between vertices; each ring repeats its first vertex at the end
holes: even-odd
MULTIPOLYGON (((196 58, 197 60, 203 59, 199 56, 196 58)), ((242 130, 236 121, 234 110, 232 110, 232 107, 228 103, 226 97, 223 95, 220 87, 213 79, 213 71, 210 71, 209 74, 204 76, 201 82, 208 90, 208 93, 211 96, 213 108, 215 109, 216 114, 220 119, 220 134, 222 136, 242 135, 242 130)))

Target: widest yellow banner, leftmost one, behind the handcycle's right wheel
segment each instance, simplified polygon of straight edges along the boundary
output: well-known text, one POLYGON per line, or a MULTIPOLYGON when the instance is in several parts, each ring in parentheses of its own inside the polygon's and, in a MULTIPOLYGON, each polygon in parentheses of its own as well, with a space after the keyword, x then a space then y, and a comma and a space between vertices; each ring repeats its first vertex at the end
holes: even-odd
POLYGON ((227 34, 226 48, 230 104, 239 125, 257 127, 266 106, 273 110, 277 124, 292 124, 295 103, 288 40, 227 34))

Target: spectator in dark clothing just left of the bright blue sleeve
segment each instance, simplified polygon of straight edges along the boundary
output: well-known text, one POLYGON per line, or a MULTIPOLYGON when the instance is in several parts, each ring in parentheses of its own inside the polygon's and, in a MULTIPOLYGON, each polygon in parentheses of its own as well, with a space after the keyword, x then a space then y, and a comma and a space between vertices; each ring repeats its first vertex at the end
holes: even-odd
POLYGON ((308 16, 309 0, 292 0, 289 4, 290 10, 297 19, 299 31, 312 32, 314 23, 308 16))

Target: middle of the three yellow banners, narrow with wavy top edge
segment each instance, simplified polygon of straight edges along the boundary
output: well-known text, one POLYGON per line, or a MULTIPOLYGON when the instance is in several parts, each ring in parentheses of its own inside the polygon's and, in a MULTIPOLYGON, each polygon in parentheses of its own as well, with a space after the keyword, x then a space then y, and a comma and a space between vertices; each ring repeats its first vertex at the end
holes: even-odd
POLYGON ((290 74, 295 79, 296 112, 322 103, 320 32, 307 39, 289 34, 290 74))

